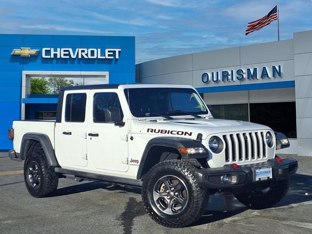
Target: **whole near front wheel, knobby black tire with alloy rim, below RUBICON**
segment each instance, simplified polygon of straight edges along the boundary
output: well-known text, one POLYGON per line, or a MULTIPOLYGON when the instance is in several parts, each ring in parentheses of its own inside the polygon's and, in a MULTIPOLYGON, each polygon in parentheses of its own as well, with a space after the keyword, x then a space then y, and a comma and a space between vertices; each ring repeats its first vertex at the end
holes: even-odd
POLYGON ((166 227, 185 227, 206 208, 206 190, 195 179, 195 166, 181 160, 156 164, 143 179, 142 201, 147 213, 166 227))

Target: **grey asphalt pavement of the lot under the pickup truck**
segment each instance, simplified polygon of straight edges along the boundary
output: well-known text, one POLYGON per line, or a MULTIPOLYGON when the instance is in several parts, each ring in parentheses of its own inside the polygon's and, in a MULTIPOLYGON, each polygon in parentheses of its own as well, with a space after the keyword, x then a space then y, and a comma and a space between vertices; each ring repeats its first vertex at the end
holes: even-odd
POLYGON ((249 210, 232 195, 211 195, 197 223, 172 229, 146 214, 140 189, 59 179, 52 196, 34 198, 24 184, 23 162, 0 153, 0 234, 311 234, 310 159, 299 159, 303 165, 275 207, 249 210))

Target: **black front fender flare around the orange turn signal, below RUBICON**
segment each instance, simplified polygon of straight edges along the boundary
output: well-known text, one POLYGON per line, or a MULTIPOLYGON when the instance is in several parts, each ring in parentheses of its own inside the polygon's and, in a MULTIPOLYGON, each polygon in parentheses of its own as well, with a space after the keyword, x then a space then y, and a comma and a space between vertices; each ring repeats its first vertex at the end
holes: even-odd
POLYGON ((197 148, 202 147, 205 149, 205 153, 202 154, 181 154, 182 159, 197 159, 197 158, 208 158, 212 154, 207 150, 207 148, 199 141, 193 139, 183 138, 183 137, 155 137, 146 144, 145 150, 141 157, 140 165, 137 170, 137 179, 140 179, 143 173, 144 165, 146 163, 148 154, 152 147, 162 146, 174 148, 178 151, 179 148, 197 148))

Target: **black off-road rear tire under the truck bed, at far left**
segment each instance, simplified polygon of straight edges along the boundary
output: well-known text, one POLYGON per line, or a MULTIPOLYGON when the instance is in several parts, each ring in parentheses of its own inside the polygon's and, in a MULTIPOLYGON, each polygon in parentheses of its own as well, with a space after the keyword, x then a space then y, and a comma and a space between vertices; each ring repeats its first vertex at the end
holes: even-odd
POLYGON ((50 167, 47 163, 46 157, 42 149, 34 152, 29 152, 27 154, 24 162, 24 179, 26 188, 30 195, 32 195, 33 197, 44 197, 50 195, 58 188, 59 184, 59 177, 54 172, 54 168, 50 167), (38 185, 36 185, 35 187, 32 186, 29 178, 29 168, 33 167, 33 165, 38 166, 38 170, 36 171, 38 171, 38 175, 40 178, 38 185))

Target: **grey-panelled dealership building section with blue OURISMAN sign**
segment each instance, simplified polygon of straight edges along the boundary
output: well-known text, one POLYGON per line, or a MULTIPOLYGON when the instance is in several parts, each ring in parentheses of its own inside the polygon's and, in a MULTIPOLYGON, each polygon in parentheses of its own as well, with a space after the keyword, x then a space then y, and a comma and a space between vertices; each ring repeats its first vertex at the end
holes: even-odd
POLYGON ((268 125, 290 139, 278 153, 312 156, 312 31, 140 63, 136 80, 192 85, 215 118, 268 125))

